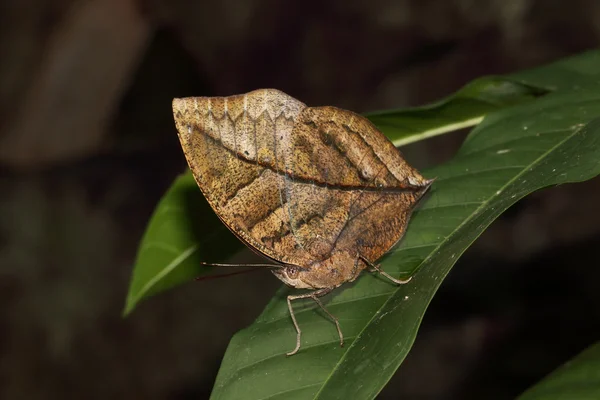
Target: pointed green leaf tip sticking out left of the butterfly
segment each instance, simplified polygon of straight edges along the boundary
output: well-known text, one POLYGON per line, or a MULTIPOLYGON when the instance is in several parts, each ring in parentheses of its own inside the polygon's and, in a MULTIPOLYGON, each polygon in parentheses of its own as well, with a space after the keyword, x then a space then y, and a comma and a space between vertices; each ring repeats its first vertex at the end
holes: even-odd
POLYGON ((210 270, 237 238, 212 212, 191 174, 183 174, 158 204, 146 229, 129 287, 124 314, 148 296, 188 282, 210 270))

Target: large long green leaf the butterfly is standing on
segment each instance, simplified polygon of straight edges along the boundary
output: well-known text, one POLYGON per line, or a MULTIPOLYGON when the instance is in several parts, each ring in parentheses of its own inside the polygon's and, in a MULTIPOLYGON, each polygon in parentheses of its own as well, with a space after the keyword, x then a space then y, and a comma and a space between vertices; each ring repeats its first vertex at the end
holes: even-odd
POLYGON ((600 92, 548 95, 479 125, 453 161, 425 171, 437 177, 405 238, 383 261, 396 287, 364 274, 328 296, 347 345, 310 301, 296 304, 300 352, 281 290, 250 327, 232 339, 215 399, 370 399, 400 366, 433 295, 456 260, 504 210, 540 188, 600 173, 600 92), (592 118, 599 118, 585 125, 592 118))

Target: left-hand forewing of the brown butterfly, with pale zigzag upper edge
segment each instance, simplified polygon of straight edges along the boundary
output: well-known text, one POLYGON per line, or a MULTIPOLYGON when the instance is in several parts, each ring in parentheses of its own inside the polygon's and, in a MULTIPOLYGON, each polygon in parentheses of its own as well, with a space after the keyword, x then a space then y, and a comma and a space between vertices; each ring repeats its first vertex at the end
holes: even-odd
POLYGON ((173 101, 186 159, 212 208, 247 244, 286 264, 306 263, 308 255, 293 237, 281 239, 290 221, 278 142, 289 140, 305 107, 272 89, 173 101))

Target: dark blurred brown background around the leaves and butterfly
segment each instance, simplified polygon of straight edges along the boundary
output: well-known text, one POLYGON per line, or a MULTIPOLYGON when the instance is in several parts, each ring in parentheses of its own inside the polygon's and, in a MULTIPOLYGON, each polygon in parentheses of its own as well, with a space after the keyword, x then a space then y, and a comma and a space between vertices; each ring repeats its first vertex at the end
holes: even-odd
MULTIPOLYGON (((121 319, 145 224, 185 168, 173 97, 419 105, 597 46, 599 20, 596 0, 0 1, 0 397, 205 398, 280 285, 191 283, 121 319)), ((437 164, 463 137, 403 151, 437 164)), ((597 340, 599 201, 595 179, 495 222, 381 398, 511 398, 597 340)))

